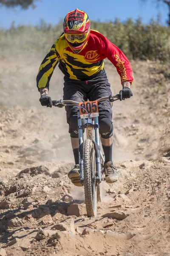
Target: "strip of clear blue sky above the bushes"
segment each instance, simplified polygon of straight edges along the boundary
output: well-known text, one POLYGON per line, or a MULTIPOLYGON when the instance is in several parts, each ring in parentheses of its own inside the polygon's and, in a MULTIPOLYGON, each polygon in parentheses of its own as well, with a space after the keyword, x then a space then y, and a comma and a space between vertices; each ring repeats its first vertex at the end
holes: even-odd
POLYGON ((144 23, 149 23, 151 18, 156 19, 160 13, 161 25, 166 25, 168 15, 165 4, 161 4, 157 9, 151 0, 145 4, 142 4, 140 0, 39 0, 36 9, 21 10, 20 8, 0 7, 0 27, 8 29, 13 21, 15 26, 37 25, 40 19, 55 25, 59 20, 63 20, 67 12, 76 8, 85 11, 91 20, 101 21, 115 20, 115 18, 125 21, 130 17, 136 20, 142 17, 144 23))

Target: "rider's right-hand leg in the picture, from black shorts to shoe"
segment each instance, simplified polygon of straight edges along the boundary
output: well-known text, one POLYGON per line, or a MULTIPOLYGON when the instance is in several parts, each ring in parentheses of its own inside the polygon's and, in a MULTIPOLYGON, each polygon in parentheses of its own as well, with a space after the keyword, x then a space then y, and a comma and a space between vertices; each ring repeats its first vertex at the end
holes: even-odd
MULTIPOLYGON (((101 73, 99 77, 88 81, 89 94, 88 99, 90 101, 99 99, 104 96, 111 96, 111 88, 108 82, 106 73, 101 73)), ((119 174, 116 171, 116 167, 112 162, 112 109, 109 100, 103 100, 99 102, 99 133, 101 136, 102 148, 105 154, 105 180, 108 183, 113 183, 119 178, 119 174)))

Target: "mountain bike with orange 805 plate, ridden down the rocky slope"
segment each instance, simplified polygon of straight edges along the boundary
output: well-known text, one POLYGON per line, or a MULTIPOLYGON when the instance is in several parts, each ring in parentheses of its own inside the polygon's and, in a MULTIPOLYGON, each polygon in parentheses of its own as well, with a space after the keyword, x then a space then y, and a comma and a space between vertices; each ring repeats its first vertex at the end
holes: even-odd
POLYGON ((98 103, 109 99, 114 102, 119 94, 97 99, 93 102, 76 102, 73 100, 52 100, 55 107, 62 108, 68 105, 77 105, 78 135, 79 135, 79 169, 80 183, 85 189, 85 204, 88 217, 96 216, 97 201, 101 201, 100 183, 104 180, 105 157, 101 153, 99 143, 99 110, 98 103), (83 130, 86 130, 87 139, 84 140, 83 130))

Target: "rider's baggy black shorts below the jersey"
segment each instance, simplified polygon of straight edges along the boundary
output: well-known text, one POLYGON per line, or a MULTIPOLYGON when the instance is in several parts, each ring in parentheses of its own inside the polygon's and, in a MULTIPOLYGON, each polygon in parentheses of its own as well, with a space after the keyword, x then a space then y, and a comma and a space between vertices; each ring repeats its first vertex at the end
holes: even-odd
MULTIPOLYGON (((77 81, 74 79, 64 78, 64 88, 63 88, 63 99, 71 99, 77 102, 85 102, 87 100, 94 101, 104 96, 111 96, 111 85, 108 82, 105 70, 100 71, 100 73, 93 79, 87 81, 77 81)), ((100 113, 108 112, 110 121, 112 120, 112 109, 109 100, 99 102, 99 115, 100 113)), ((79 109, 78 106, 66 106, 65 110, 67 112, 67 122, 69 124, 69 133, 71 134, 70 128, 70 115, 74 114, 79 109)), ((112 123, 112 121, 111 121, 112 123)), ((77 125, 77 124, 76 124, 77 125)), ((71 136, 73 137, 73 136, 71 136)))

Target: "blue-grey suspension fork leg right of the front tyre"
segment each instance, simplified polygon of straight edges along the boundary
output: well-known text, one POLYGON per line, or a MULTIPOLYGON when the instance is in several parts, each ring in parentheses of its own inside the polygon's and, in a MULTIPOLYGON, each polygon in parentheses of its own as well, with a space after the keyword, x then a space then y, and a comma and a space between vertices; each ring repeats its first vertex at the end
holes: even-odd
POLYGON ((100 160, 100 143, 99 143, 99 118, 94 117, 94 131, 95 131, 95 154, 96 154, 96 183, 100 183, 101 176, 101 160, 100 160))

